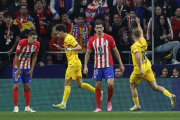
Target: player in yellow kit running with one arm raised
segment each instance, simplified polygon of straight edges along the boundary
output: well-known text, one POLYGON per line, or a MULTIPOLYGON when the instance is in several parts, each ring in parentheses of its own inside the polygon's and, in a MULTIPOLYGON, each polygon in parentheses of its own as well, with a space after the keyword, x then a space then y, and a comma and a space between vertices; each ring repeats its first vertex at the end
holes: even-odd
POLYGON ((167 91, 165 88, 158 86, 156 84, 156 80, 151 69, 151 63, 146 57, 147 43, 143 37, 143 30, 141 28, 139 18, 136 18, 136 22, 138 24, 138 28, 133 29, 132 31, 132 36, 135 43, 131 46, 134 71, 132 72, 130 77, 130 88, 135 105, 132 108, 130 108, 130 110, 141 110, 136 87, 142 81, 142 79, 144 79, 149 84, 151 89, 159 91, 163 93, 165 96, 169 97, 171 100, 171 106, 172 108, 174 108, 176 105, 176 96, 174 94, 169 93, 169 91, 167 91))

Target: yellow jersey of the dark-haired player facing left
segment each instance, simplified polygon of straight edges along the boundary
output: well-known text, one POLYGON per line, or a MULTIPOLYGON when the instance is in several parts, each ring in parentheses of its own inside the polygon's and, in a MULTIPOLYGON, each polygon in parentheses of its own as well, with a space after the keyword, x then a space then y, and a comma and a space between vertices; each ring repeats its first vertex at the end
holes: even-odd
MULTIPOLYGON (((78 42, 72 36, 67 34, 66 38, 64 39, 64 46, 68 48, 75 48, 78 42)), ((66 57, 68 61, 68 65, 70 66, 80 66, 81 61, 78 58, 77 51, 66 51, 66 57)))

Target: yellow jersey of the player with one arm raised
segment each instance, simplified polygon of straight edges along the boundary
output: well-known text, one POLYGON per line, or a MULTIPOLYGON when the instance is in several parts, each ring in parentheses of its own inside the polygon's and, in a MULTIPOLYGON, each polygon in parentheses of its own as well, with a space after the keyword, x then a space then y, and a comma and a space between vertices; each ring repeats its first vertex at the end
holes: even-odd
POLYGON ((135 74, 140 74, 139 66, 138 66, 138 63, 136 61, 136 56, 135 56, 136 52, 140 53, 141 69, 143 70, 143 72, 146 73, 146 71, 151 68, 151 62, 146 57, 146 50, 147 50, 147 42, 143 37, 140 38, 140 41, 135 42, 131 46, 131 55, 132 55, 135 74))

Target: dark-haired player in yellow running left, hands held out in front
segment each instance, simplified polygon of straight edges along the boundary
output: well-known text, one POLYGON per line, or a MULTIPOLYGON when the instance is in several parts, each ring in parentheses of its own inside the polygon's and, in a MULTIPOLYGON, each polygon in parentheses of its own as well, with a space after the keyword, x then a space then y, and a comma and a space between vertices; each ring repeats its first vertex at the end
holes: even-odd
MULTIPOLYGON (((69 94, 71 92, 71 83, 73 80, 75 80, 77 86, 79 88, 86 89, 88 91, 95 93, 95 88, 87 83, 82 82, 82 64, 81 61, 78 58, 77 51, 82 50, 82 47, 78 44, 76 39, 70 35, 67 34, 66 26, 63 24, 56 26, 56 33, 57 36, 64 39, 64 48, 60 47, 57 44, 54 44, 59 50, 63 50, 66 52, 66 57, 68 61, 68 67, 65 74, 65 83, 64 83, 64 95, 62 102, 58 105, 52 105, 55 108, 60 109, 66 109, 66 103, 69 97, 69 94)), ((101 91, 101 94, 103 95, 103 91, 101 91)), ((103 96, 101 97, 101 100, 103 99, 103 96)))

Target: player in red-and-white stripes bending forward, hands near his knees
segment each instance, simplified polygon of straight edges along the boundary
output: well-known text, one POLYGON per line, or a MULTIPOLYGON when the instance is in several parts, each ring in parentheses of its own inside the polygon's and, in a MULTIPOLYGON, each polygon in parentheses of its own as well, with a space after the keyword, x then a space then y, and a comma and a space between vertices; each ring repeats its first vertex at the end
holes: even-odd
POLYGON ((37 41, 37 34, 31 31, 27 39, 22 39, 17 45, 16 55, 13 62, 13 100, 14 111, 19 112, 18 108, 18 89, 22 79, 24 83, 25 112, 36 112, 30 105, 30 84, 32 80, 33 69, 36 64, 40 43, 37 41), (32 65, 30 65, 31 55, 33 53, 32 65))

